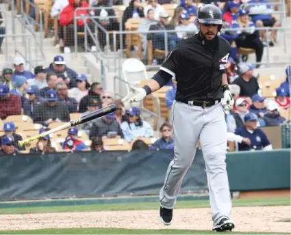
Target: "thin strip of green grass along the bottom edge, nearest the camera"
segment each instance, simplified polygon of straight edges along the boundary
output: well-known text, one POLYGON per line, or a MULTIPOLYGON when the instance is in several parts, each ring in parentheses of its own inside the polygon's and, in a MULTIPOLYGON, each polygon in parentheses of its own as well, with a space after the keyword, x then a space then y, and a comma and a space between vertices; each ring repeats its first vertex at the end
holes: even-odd
MULTIPOLYGON (((216 234, 212 231, 198 230, 127 230, 119 228, 75 228, 75 229, 58 229, 58 230, 15 230, 15 231, 0 231, 0 234, 216 234)), ((233 234, 274 234, 268 232, 231 232, 233 234)), ((279 233, 276 234, 288 234, 279 233)))

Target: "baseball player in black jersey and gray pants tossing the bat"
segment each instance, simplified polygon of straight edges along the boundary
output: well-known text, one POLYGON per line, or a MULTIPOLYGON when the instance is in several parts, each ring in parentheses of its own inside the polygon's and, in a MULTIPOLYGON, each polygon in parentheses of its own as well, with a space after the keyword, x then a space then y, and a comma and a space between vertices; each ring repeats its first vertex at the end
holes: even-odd
POLYGON ((144 87, 132 87, 125 102, 138 102, 175 77, 177 93, 171 122, 175 139, 175 157, 168 166, 160 191, 160 218, 170 225, 173 207, 182 180, 195 156, 200 139, 210 193, 213 230, 231 231, 231 197, 225 165, 227 126, 225 110, 233 106, 227 85, 225 66, 229 43, 218 36, 223 24, 215 5, 204 5, 198 12, 199 33, 180 42, 160 70, 144 87))

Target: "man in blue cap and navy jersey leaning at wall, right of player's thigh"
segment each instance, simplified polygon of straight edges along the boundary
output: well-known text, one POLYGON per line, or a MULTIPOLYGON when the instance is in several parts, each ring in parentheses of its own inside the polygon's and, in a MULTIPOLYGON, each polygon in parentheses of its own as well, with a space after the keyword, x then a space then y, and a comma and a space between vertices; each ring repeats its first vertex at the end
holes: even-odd
POLYGON ((257 115, 255 113, 248 113, 244 116, 244 126, 236 128, 235 134, 241 139, 248 138, 251 141, 250 144, 238 141, 238 151, 273 149, 266 134, 257 128, 257 115))

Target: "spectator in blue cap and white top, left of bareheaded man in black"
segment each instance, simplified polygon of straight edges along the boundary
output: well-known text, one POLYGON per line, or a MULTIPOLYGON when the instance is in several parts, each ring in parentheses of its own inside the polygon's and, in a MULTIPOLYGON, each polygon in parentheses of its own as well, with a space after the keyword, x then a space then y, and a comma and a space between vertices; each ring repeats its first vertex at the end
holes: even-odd
POLYGON ((71 98, 75 98, 77 103, 81 101, 81 98, 88 95, 88 89, 90 88, 90 84, 87 81, 87 77, 85 74, 79 74, 77 79, 77 87, 74 87, 68 91, 68 96, 71 98))

